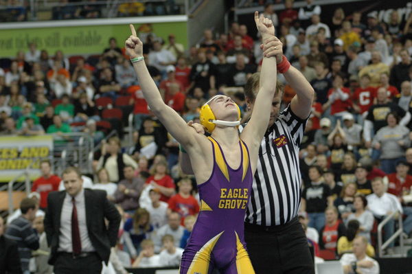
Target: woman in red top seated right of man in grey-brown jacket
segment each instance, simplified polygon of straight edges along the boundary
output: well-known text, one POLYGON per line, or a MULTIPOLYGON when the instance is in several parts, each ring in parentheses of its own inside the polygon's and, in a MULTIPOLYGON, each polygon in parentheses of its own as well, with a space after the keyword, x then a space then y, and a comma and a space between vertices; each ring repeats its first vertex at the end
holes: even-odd
POLYGON ((161 193, 160 201, 168 203, 170 197, 174 194, 174 181, 171 176, 167 174, 168 163, 159 161, 153 165, 150 172, 153 174, 146 180, 146 184, 150 184, 161 193))

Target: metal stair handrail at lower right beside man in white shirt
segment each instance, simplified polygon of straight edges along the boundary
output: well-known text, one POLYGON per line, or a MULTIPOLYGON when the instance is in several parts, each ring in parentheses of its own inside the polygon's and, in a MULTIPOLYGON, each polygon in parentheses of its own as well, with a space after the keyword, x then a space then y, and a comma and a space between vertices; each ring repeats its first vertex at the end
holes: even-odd
POLYGON ((403 233, 403 222, 402 222, 402 213, 397 210, 396 212, 393 212, 392 214, 389 214, 380 224, 378 225, 378 254, 380 258, 393 258, 393 257, 404 257, 403 255, 403 249, 404 249, 404 238, 402 236, 403 233), (392 219, 392 218, 397 218, 398 219, 398 230, 393 233, 393 235, 386 240, 386 242, 382 243, 382 229, 383 227, 392 219), (402 251, 401 254, 397 255, 389 255, 389 254, 384 254, 383 251, 391 244, 391 242, 395 241, 396 238, 399 237, 399 244, 400 244, 400 250, 402 251))

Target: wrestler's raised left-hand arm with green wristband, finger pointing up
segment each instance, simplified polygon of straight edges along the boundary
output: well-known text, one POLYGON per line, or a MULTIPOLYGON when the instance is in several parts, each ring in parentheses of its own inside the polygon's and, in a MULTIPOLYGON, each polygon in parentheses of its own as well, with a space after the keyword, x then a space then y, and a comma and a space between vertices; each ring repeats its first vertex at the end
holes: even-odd
POLYGON ((126 40, 126 52, 130 59, 134 59, 133 67, 150 110, 180 144, 185 146, 186 149, 190 149, 195 144, 194 134, 196 133, 186 125, 183 118, 176 111, 163 102, 155 81, 150 76, 144 62, 143 43, 137 37, 133 25, 130 25, 130 30, 132 35, 126 40))

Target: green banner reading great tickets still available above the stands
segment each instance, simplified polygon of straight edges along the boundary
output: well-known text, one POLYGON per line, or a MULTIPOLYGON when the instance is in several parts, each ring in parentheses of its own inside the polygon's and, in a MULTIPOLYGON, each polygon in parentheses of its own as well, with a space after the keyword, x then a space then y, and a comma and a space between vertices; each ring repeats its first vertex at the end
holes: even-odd
MULTIPOLYGON (((52 22, 51 22, 52 24, 52 22)), ((187 23, 135 24, 142 36, 148 32, 167 41, 168 35, 176 35, 176 42, 187 46, 187 23)), ((128 25, 93 25, 73 27, 39 27, 30 29, 0 30, 0 58, 14 57, 19 50, 27 51, 27 45, 35 42, 38 49, 47 49, 54 55, 60 49, 65 55, 100 54, 108 47, 108 39, 117 39, 117 45, 124 47, 130 36, 128 25)))

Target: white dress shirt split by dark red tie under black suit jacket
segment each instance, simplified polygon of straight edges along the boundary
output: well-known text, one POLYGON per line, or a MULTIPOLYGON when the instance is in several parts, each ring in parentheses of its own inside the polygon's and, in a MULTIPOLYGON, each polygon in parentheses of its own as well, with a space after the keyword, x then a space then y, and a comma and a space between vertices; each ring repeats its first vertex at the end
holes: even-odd
MULTIPOLYGON (((93 252, 95 248, 91 244, 89 232, 86 223, 86 205, 84 203, 84 190, 82 189, 75 197, 76 209, 78 214, 78 225, 80 231, 80 241, 82 242, 82 252, 93 252)), ((58 251, 73 252, 71 241, 71 213, 73 212, 73 203, 71 196, 66 193, 63 201, 62 214, 60 216, 60 236, 58 251)))

